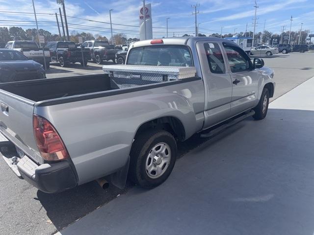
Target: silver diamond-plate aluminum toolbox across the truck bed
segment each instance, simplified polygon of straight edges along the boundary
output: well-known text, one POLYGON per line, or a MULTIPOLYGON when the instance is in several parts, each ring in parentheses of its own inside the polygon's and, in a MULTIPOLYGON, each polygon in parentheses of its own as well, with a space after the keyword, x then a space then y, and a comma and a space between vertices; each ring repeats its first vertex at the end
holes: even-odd
POLYGON ((112 88, 125 88, 157 82, 194 77, 194 67, 104 65, 103 71, 111 79, 112 88))

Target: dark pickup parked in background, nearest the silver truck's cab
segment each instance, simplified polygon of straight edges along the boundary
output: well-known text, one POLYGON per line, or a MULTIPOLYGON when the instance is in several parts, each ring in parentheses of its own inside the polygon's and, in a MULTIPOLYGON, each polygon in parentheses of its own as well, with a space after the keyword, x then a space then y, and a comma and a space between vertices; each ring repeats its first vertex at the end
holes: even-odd
POLYGON ((102 64, 104 60, 115 62, 116 49, 106 41, 85 41, 82 46, 90 50, 91 59, 96 64, 102 64))

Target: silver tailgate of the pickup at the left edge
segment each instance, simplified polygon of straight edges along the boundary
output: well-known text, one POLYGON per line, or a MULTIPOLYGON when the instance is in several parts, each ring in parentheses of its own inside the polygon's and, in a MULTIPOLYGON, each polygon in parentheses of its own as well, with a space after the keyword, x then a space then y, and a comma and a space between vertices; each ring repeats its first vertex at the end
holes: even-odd
POLYGON ((0 90, 0 132, 38 164, 43 163, 34 139, 35 102, 0 90))

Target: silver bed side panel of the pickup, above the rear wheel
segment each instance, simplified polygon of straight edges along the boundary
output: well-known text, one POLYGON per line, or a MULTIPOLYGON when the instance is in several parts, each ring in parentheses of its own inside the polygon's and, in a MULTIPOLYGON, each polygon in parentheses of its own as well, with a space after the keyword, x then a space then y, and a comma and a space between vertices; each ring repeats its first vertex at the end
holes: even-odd
POLYGON ((111 174, 128 160, 141 124, 176 117, 189 138, 203 127, 204 85, 196 80, 176 85, 46 107, 34 113, 50 120, 76 167, 79 184, 111 174))

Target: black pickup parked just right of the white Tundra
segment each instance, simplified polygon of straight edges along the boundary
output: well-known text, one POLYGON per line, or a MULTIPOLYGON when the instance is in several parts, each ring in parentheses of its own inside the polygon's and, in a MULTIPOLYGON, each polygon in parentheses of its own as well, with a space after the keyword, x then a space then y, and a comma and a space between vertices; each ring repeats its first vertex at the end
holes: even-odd
POLYGON ((52 62, 58 62, 61 67, 65 67, 70 63, 79 62, 83 66, 82 51, 84 56, 84 65, 90 60, 89 49, 78 48, 74 42, 49 42, 46 47, 50 51, 52 62))

